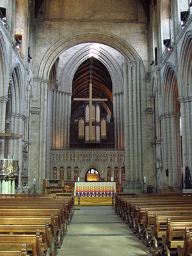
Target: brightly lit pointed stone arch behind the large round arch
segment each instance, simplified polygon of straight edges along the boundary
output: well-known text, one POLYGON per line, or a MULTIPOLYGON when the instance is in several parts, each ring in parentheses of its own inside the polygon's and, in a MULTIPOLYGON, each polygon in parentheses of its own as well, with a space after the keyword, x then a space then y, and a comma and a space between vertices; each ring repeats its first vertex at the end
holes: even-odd
MULTIPOLYGON (((83 47, 83 49, 77 52, 77 54, 75 54, 75 56, 73 56, 73 58, 70 59, 70 61, 68 61, 66 65, 67 68, 64 69, 64 72, 61 77, 61 81, 65 81, 65 84, 69 84, 69 85, 72 84, 72 80, 77 68, 79 67, 79 65, 81 65, 81 63, 83 63, 83 61, 90 58, 90 49, 93 49, 92 50, 93 56, 98 60, 100 60, 104 64, 104 66, 108 69, 109 74, 111 76, 113 88, 115 85, 115 88, 114 88, 115 90, 117 90, 118 88, 119 90, 123 90, 124 82, 123 82, 122 70, 120 69, 116 60, 110 54, 108 54, 106 50, 99 49, 98 51, 98 49, 96 49, 94 45, 93 46, 92 45, 93 44, 83 47)), ((60 88, 60 90, 62 90, 62 88, 60 88)))

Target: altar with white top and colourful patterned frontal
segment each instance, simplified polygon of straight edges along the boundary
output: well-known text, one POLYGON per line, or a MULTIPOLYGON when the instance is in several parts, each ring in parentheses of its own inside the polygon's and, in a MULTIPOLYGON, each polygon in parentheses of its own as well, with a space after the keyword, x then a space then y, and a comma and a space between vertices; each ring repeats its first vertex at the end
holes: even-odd
POLYGON ((75 196, 115 196, 115 182, 76 182, 75 196))

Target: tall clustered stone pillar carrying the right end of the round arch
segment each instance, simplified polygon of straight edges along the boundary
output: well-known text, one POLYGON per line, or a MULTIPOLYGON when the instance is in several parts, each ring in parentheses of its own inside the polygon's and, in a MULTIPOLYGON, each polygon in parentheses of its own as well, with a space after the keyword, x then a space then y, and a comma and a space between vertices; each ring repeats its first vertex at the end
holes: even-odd
POLYGON ((140 60, 124 64, 125 191, 141 193, 140 60))

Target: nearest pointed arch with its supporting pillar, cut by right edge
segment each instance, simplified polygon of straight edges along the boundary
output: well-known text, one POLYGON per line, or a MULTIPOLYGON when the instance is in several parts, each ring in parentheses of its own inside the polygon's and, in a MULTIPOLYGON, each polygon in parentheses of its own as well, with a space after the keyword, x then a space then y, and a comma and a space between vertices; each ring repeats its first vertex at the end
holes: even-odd
POLYGON ((182 44, 179 60, 179 101, 182 122, 182 162, 192 171, 192 31, 188 31, 182 44))

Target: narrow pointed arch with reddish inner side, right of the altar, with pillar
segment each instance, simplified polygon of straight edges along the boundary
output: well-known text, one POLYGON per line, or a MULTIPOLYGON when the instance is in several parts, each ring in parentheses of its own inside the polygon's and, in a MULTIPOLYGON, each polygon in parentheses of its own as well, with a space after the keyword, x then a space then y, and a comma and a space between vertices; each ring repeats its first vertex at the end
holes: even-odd
POLYGON ((180 143, 180 103, 175 68, 167 63, 164 70, 162 88, 161 137, 163 172, 159 186, 172 185, 182 188, 182 164, 180 143))

